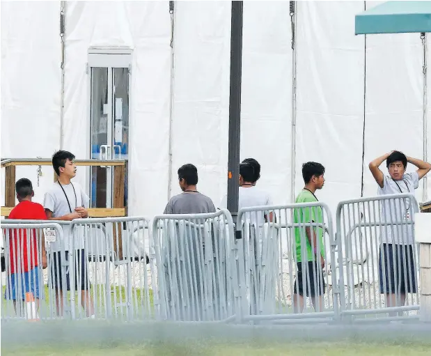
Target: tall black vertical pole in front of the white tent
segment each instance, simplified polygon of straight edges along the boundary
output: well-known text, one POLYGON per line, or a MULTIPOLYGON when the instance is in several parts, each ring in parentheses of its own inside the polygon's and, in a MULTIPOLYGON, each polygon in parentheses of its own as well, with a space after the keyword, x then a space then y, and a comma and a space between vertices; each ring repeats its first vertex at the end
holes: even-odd
MULTIPOLYGON (((232 1, 230 19, 230 95, 228 152, 228 210, 236 222, 238 214, 238 176, 240 174, 242 65, 242 1, 232 1)), ((240 237, 240 236, 237 236, 240 237)))

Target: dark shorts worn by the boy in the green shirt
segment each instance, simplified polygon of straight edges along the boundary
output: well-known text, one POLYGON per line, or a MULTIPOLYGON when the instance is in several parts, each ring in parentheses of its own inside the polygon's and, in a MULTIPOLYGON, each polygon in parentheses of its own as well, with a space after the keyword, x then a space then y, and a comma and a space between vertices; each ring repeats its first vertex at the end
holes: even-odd
POLYGON ((304 266, 306 267, 305 272, 302 270, 302 262, 297 263, 297 277, 293 293, 308 297, 324 295, 326 284, 324 283, 323 268, 320 263, 308 261, 304 262, 304 266), (305 280, 305 288, 303 278, 305 280), (304 293, 304 289, 306 293, 304 293))

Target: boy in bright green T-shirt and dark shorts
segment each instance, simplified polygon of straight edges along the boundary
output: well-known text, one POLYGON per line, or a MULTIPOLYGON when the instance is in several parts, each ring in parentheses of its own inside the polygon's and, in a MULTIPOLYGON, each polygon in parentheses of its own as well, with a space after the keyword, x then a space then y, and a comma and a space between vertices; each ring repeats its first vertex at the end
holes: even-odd
MULTIPOLYGON (((324 167, 320 163, 307 162, 302 165, 302 178, 305 187, 299 192, 295 203, 318 201, 317 189, 324 185, 324 167)), ((323 223, 322 208, 297 208, 294 212, 295 224, 314 222, 323 223)), ((311 297, 315 311, 323 311, 325 283, 324 268, 324 229, 317 226, 299 226, 295 228, 294 258, 297 262, 297 277, 293 294, 295 313, 304 310, 304 295, 311 297), (318 300, 316 300, 318 297, 318 300), (317 303, 318 302, 318 303, 317 303)))

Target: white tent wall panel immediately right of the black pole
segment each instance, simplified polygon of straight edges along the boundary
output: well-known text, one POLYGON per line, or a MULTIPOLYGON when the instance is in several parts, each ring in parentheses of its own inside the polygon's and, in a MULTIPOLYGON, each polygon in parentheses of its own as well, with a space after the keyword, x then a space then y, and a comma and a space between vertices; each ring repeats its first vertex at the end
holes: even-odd
POLYGON ((240 159, 261 165, 258 186, 290 200, 292 47, 288 1, 245 1, 240 159))

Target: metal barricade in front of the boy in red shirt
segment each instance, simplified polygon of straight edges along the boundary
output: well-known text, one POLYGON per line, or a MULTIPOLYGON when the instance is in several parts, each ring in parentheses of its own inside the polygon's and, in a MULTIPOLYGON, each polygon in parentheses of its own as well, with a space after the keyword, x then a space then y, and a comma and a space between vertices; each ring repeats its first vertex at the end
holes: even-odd
MULTIPOLYGON (((10 219, 2 221, 1 231, 5 257, 1 319, 67 317, 70 304, 66 295, 57 300, 52 283, 53 279, 65 283, 67 265, 56 268, 49 251, 49 240, 63 241, 61 226, 55 222, 10 219)), ((58 254, 65 256, 64 245, 61 247, 58 254)))

